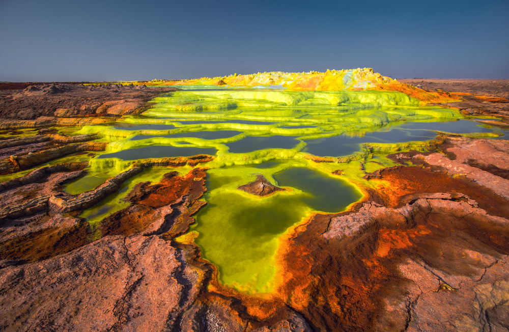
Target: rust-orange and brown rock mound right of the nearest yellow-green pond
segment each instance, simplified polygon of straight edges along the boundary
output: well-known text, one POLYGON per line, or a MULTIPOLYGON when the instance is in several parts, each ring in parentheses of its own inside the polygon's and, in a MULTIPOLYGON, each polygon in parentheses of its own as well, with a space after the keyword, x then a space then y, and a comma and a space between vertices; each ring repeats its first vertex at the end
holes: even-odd
MULTIPOLYGON (((454 302, 467 310, 462 313, 476 312, 475 294, 463 288, 482 285, 485 271, 509 253, 509 220, 470 203, 441 193, 399 209, 365 203, 355 213, 315 216, 281 253, 289 278, 281 298, 315 331, 403 330, 416 322, 409 303, 426 294, 422 318, 433 320, 426 312, 441 311, 434 323, 444 317, 449 327, 432 330, 453 329, 450 323, 461 316, 454 302), (430 286, 418 287, 423 284, 430 286), (440 295, 449 292, 454 300, 449 296, 450 307, 442 307, 440 295)), ((498 273, 493 280, 509 278, 507 270, 498 273)))

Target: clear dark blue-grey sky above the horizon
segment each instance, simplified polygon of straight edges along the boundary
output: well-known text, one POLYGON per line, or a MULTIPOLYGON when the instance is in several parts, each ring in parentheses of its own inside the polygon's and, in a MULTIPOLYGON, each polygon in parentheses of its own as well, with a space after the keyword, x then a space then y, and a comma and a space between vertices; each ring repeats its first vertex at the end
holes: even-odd
POLYGON ((509 78, 509 1, 0 0, 0 81, 509 78))

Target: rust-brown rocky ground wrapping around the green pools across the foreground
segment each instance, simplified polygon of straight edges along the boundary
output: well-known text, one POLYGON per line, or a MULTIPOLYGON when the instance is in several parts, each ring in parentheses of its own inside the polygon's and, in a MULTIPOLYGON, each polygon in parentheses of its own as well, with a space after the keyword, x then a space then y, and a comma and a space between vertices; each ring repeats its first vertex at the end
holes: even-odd
MULTIPOLYGON (((104 149, 91 136, 37 127, 37 121, 50 127, 59 119, 102 119, 101 106, 87 114, 80 105, 41 107, 2 114, 8 118, 2 134, 35 128, 33 136, 0 140, 0 173, 104 149), (51 119, 23 118, 47 112, 51 119)), ((87 162, 0 183, 0 329, 509 330, 506 140, 439 136, 432 152, 391 155, 401 166, 366 174, 372 186, 364 201, 344 213, 313 215, 282 239, 282 281, 270 298, 218 285, 216 267, 199 248, 175 241, 205 204, 200 164, 211 158, 148 159, 80 195, 64 192, 63 184, 82 176, 87 162), (172 172, 185 164, 194 170, 172 172), (136 185, 128 206, 105 218, 103 237, 93 241, 80 212, 143 169, 160 166, 168 168, 164 178, 136 185)), ((239 189, 259 196, 279 190, 263 177, 239 189)))

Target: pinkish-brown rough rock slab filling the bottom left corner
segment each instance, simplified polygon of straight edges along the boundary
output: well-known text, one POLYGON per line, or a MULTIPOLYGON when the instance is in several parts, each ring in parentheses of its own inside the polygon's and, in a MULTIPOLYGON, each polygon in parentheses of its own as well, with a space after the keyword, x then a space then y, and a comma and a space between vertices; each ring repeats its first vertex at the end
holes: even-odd
POLYGON ((0 324, 6 331, 172 330, 201 279, 157 236, 106 237, 0 269, 0 324))

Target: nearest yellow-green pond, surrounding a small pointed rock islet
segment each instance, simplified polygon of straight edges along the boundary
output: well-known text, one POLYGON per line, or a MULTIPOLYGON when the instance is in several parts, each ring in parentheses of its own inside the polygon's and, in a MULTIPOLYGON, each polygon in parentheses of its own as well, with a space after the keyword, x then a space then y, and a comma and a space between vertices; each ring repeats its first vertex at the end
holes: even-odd
MULTIPOLYGON (((272 163, 269 163, 272 164, 272 163)), ((281 163, 272 164, 272 166, 281 163)), ((267 165, 265 165, 267 166, 267 165)), ((275 273, 277 239, 301 222, 309 211, 338 212, 360 198, 347 182, 322 172, 291 167, 274 174, 279 186, 289 187, 269 197, 236 189, 246 173, 234 167, 207 177, 208 205, 197 215, 195 242, 205 258, 215 263, 223 284, 250 293, 268 292, 275 273), (235 176, 237 172, 240 175, 235 176), (235 186, 231 186, 235 183, 235 186)))

